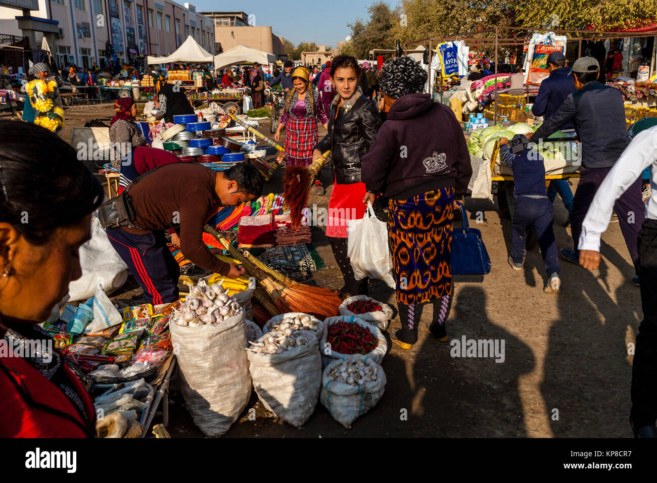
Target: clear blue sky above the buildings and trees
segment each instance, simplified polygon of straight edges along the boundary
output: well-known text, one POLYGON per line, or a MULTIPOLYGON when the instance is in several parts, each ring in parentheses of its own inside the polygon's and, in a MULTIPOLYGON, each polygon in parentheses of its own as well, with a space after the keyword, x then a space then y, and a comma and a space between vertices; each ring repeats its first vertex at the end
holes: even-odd
MULTIPOLYGON (((183 0, 179 1, 182 3, 183 0)), ((255 14, 256 25, 271 25, 275 34, 289 39, 294 45, 306 41, 335 47, 338 41, 351 33, 347 24, 357 17, 365 18, 367 7, 373 0, 240 0, 232 3, 196 0, 190 3, 196 6, 197 12, 242 11, 255 14)))

